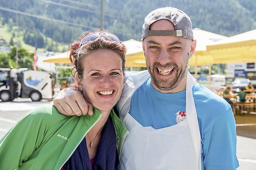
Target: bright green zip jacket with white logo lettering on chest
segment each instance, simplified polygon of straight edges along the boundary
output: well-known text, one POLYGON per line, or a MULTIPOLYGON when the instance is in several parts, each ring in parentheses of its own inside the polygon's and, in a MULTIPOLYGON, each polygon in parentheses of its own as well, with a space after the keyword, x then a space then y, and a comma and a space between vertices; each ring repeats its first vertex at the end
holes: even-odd
MULTIPOLYGON (((93 113, 67 117, 52 105, 31 110, 0 140, 0 170, 59 170, 102 116, 97 109, 93 113)), ((110 116, 120 157, 129 132, 113 109, 110 116)))

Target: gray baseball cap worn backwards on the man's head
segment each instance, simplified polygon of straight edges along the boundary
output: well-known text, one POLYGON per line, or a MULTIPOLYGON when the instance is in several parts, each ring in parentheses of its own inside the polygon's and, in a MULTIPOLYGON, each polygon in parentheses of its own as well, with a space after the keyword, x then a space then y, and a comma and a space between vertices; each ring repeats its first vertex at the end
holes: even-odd
POLYGON ((149 13, 142 26, 142 40, 147 36, 178 36, 193 40, 192 23, 186 13, 180 9, 167 6, 149 13), (174 31, 150 30, 150 25, 158 20, 169 20, 174 25, 174 31))

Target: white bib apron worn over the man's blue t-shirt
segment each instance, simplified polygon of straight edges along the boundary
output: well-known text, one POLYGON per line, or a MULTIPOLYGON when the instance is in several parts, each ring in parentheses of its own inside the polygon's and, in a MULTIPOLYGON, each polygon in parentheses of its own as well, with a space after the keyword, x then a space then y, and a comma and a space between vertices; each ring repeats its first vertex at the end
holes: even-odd
POLYGON ((117 105, 120 118, 129 131, 121 151, 119 169, 201 170, 201 139, 192 94, 195 79, 188 72, 186 119, 170 127, 154 129, 143 127, 129 114, 132 95, 149 77, 148 71, 130 76, 126 80, 128 89, 117 105))

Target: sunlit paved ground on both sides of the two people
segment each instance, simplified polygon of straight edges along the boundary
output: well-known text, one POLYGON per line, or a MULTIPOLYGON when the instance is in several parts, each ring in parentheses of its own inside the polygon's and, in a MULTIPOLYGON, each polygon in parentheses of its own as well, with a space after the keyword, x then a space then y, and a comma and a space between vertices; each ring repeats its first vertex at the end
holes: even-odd
MULTIPOLYGON (((15 99, 13 102, 0 102, 0 138, 26 112, 51 101, 31 102, 30 99, 15 99)), ((256 170, 256 114, 246 113, 235 116, 237 123, 237 157, 240 167, 237 170, 256 170)))

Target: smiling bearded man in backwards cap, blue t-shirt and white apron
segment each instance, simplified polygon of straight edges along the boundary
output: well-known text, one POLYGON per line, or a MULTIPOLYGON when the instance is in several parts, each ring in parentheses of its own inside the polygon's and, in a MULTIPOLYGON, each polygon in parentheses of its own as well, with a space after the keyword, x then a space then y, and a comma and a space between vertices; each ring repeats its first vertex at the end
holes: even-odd
MULTIPOLYGON (((119 168, 236 169, 232 109, 187 71, 196 47, 190 18, 169 6, 152 11, 143 24, 142 44, 148 71, 126 73, 128 87, 117 103, 130 132, 119 168)), ((62 114, 85 115, 88 108, 91 115, 91 105, 81 96, 66 89, 54 105, 62 114)))

